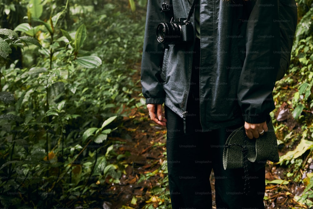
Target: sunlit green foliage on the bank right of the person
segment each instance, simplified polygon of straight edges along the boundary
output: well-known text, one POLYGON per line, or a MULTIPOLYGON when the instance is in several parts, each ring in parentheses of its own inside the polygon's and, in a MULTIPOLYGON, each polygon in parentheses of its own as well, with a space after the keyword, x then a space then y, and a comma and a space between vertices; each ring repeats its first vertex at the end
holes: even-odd
MULTIPOLYGON (((292 148, 280 157, 280 165, 287 166, 286 176, 289 180, 305 185, 305 192, 301 196, 296 196, 300 203, 310 208, 312 202, 312 178, 302 179, 305 165, 312 157, 313 138, 313 1, 296 0, 298 4, 298 25, 295 32, 293 49, 291 52, 291 64, 289 71, 282 81, 277 82, 274 95, 276 100, 286 102, 292 111, 291 116, 295 118, 296 127, 288 130, 285 124, 279 125, 279 131, 283 132, 281 143, 283 147, 292 148), (281 101, 281 99, 283 99, 281 101), (287 131, 282 131, 287 130, 287 131), (301 172, 300 172, 301 171, 301 172), (310 181, 307 184, 305 181, 310 181)), ((288 119, 292 121, 292 119, 288 119)), ((290 124, 290 123, 289 123, 290 124)), ((277 130, 278 130, 277 129, 277 130)), ((305 171, 306 172, 306 171, 305 171)), ((308 172, 310 172, 308 170, 308 172)))

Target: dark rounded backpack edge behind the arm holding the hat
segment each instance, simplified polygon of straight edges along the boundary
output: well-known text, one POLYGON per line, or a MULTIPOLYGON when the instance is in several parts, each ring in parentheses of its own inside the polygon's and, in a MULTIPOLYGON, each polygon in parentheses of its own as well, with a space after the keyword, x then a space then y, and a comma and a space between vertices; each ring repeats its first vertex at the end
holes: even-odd
POLYGON ((281 54, 276 81, 284 77, 290 64, 290 54, 298 21, 295 0, 279 0, 279 19, 281 54))

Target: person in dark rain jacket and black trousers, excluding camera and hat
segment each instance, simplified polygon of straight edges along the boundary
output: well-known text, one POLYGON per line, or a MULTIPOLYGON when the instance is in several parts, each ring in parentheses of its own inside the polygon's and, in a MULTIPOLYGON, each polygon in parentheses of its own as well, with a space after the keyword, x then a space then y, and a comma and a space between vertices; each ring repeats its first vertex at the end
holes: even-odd
POLYGON ((250 139, 268 130, 275 81, 290 61, 281 55, 292 47, 294 0, 198 0, 192 39, 165 45, 157 24, 187 18, 193 2, 171 0, 161 13, 162 2, 148 0, 141 84, 151 120, 167 126, 172 208, 212 207, 212 169, 217 208, 264 208, 265 163, 250 172, 245 196, 244 170, 223 169, 223 145, 242 125, 250 139))

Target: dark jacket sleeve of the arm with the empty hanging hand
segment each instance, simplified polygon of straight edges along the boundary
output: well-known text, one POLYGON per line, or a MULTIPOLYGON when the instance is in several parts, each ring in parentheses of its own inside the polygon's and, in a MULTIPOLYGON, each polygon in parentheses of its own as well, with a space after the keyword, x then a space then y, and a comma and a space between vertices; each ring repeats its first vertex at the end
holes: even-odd
POLYGON ((162 104, 165 93, 161 81, 161 68, 163 63, 163 44, 156 40, 156 27, 159 23, 173 16, 172 10, 162 13, 160 0, 148 0, 145 38, 141 60, 141 86, 146 104, 162 104))

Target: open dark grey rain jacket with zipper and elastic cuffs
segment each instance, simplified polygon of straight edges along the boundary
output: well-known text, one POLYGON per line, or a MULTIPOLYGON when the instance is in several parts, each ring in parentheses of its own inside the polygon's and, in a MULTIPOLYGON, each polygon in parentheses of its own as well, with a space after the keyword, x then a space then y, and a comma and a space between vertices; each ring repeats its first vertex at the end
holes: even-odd
MULTIPOLYGON (((146 103, 163 102, 181 118, 190 90, 194 42, 156 40, 156 26, 171 18, 187 18, 187 0, 148 0, 141 63, 146 103)), ((242 123, 262 123, 275 109, 275 81, 289 67, 297 24, 294 0, 199 0, 200 121, 203 130, 242 123)), ((191 18, 194 25, 194 17, 191 18)), ((195 27, 193 27, 194 29, 195 27)), ((193 35, 195 32, 193 33, 193 35)), ((187 118, 188 119, 188 118, 187 118)))

